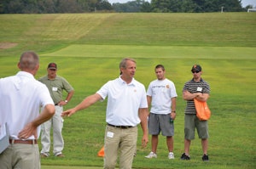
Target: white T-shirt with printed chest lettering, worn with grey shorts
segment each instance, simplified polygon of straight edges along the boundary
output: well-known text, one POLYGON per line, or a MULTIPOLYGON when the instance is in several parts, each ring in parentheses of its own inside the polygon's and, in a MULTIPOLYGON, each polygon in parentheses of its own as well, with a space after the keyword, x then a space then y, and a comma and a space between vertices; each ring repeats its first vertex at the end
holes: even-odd
POLYGON ((172 98, 177 97, 176 88, 168 79, 154 80, 149 83, 147 95, 151 96, 150 113, 167 115, 171 113, 172 98))

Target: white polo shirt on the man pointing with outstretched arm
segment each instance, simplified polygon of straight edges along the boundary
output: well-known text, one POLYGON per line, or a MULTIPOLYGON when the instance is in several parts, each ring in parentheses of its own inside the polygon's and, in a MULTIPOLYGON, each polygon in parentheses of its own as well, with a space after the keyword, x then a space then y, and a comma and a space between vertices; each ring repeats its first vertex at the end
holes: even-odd
POLYGON ((135 79, 126 84, 119 76, 96 93, 102 99, 108 96, 106 121, 115 126, 137 126, 141 122, 138 109, 148 107, 145 87, 135 79))

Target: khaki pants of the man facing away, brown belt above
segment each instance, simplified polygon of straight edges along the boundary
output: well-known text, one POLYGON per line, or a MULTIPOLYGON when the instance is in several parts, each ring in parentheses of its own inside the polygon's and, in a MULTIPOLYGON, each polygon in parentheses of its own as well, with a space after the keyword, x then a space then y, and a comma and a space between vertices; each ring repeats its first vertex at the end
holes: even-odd
POLYGON ((40 169, 38 144, 10 144, 0 155, 0 168, 40 169))

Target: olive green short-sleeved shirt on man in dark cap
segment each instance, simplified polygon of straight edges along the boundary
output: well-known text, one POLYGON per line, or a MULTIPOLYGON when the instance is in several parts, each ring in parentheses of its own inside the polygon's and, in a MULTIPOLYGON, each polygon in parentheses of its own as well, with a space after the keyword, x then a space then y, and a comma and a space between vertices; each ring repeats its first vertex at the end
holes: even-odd
POLYGON ((56 76, 55 79, 50 80, 46 75, 40 77, 38 81, 43 82, 48 87, 50 96, 55 104, 58 104, 62 100, 63 90, 67 93, 73 91, 73 87, 61 76, 56 76))

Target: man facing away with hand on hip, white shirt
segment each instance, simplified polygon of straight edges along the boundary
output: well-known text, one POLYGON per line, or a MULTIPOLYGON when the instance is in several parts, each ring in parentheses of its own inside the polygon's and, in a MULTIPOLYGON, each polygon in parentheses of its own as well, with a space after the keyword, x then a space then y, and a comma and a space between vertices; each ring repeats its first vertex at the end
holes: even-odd
POLYGON ((9 147, 0 154, 0 168, 39 169, 39 126, 54 115, 55 105, 48 88, 34 78, 38 55, 21 54, 18 67, 15 76, 0 79, 1 121, 9 128, 9 147))

